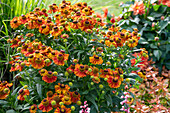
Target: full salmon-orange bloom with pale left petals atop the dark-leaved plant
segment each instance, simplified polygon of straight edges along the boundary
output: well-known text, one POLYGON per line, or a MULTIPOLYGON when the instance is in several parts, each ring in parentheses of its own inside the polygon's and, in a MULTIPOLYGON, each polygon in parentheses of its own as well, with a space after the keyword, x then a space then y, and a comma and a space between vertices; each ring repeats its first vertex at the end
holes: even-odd
POLYGON ((130 7, 129 11, 133 11, 134 15, 144 14, 145 13, 145 6, 143 4, 143 1, 135 2, 135 4, 130 7))

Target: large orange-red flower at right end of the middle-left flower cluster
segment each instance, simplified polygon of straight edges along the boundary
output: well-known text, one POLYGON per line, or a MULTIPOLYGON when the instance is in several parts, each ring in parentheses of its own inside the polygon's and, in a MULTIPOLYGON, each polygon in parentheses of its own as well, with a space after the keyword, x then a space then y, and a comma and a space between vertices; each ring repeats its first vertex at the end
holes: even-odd
POLYGON ((68 60, 68 57, 69 54, 65 54, 64 51, 60 51, 55 55, 53 61, 57 65, 64 66, 65 62, 68 60))

